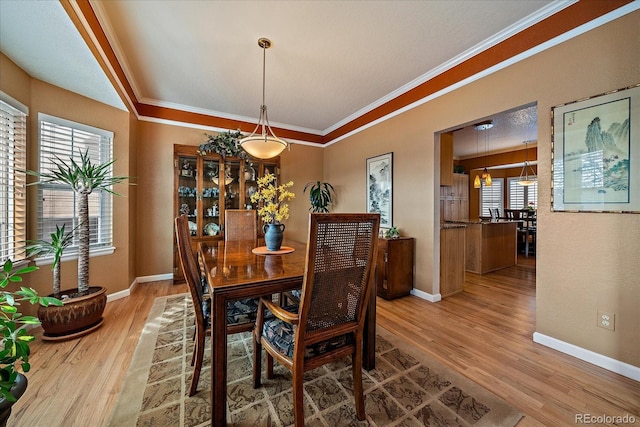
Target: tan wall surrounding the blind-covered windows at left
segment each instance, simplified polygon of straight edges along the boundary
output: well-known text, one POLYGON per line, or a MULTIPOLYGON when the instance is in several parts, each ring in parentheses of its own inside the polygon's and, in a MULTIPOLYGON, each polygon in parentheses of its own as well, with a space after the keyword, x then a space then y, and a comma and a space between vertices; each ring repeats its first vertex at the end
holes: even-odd
MULTIPOLYGON (((114 172, 130 175, 129 165, 129 113, 104 105, 75 93, 30 78, 6 56, 0 56, 0 89, 29 107, 29 129, 27 134, 27 155, 29 169, 38 165, 38 113, 50 114, 66 120, 95 126, 114 132, 114 172)), ((116 247, 112 255, 92 257, 89 263, 89 283, 104 286, 108 293, 128 289, 135 279, 133 258, 130 257, 131 236, 135 236, 128 221, 131 186, 121 184, 115 191, 124 197, 114 197, 114 233, 116 247), (114 266, 117 266, 114 268, 114 266)), ((37 227, 37 188, 28 189, 28 226, 30 239, 35 239, 37 227)), ((29 285, 42 294, 51 292, 52 275, 50 266, 43 266, 29 277, 29 285)), ((62 287, 73 288, 77 283, 77 262, 62 264, 62 287)))

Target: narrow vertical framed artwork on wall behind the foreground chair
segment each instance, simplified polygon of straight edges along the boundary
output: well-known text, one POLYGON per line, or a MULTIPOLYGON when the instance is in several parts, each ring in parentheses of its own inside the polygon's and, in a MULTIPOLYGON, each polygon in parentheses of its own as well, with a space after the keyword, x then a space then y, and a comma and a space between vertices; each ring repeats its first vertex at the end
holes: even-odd
POLYGON ((367 159, 367 212, 380 214, 380 228, 393 225, 393 153, 367 159))

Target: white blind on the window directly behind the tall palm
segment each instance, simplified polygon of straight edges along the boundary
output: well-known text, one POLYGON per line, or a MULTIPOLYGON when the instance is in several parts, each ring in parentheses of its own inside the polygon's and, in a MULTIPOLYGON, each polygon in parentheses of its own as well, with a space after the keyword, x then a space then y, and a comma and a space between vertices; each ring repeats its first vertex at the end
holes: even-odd
MULTIPOLYGON (((108 162, 112 158, 113 133, 46 114, 38 115, 40 129, 40 172, 56 169, 57 158, 80 163, 80 153, 87 151, 91 162, 108 162)), ((76 194, 58 183, 43 183, 39 188, 38 239, 49 239, 56 225, 73 230, 78 225, 76 194)), ((110 247, 113 241, 112 196, 102 190, 89 195, 89 233, 91 249, 110 247)), ((77 241, 65 254, 77 251, 77 241)))

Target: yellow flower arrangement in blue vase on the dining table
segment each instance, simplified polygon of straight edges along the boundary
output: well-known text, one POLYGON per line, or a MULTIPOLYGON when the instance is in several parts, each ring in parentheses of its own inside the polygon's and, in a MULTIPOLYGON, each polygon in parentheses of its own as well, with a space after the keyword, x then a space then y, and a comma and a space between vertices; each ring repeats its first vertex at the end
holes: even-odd
POLYGON ((258 216, 264 222, 263 231, 267 249, 277 251, 282 244, 284 224, 281 222, 289 218, 288 201, 296 195, 288 189, 293 187, 293 181, 276 185, 276 177, 272 173, 258 178, 258 190, 251 196, 253 203, 260 203, 258 216))

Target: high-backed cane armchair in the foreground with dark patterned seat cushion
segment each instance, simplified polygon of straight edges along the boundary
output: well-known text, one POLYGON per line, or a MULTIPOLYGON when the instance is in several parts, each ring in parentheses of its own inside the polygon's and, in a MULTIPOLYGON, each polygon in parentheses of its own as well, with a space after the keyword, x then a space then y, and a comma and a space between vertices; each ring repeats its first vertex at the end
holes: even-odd
POLYGON ((254 329, 253 382, 276 359, 293 375, 294 424, 304 425, 304 372, 351 356, 356 415, 365 418, 362 386, 364 319, 373 281, 380 215, 310 214, 307 261, 297 312, 260 298, 254 329), (267 319, 264 309, 271 319, 267 319))

